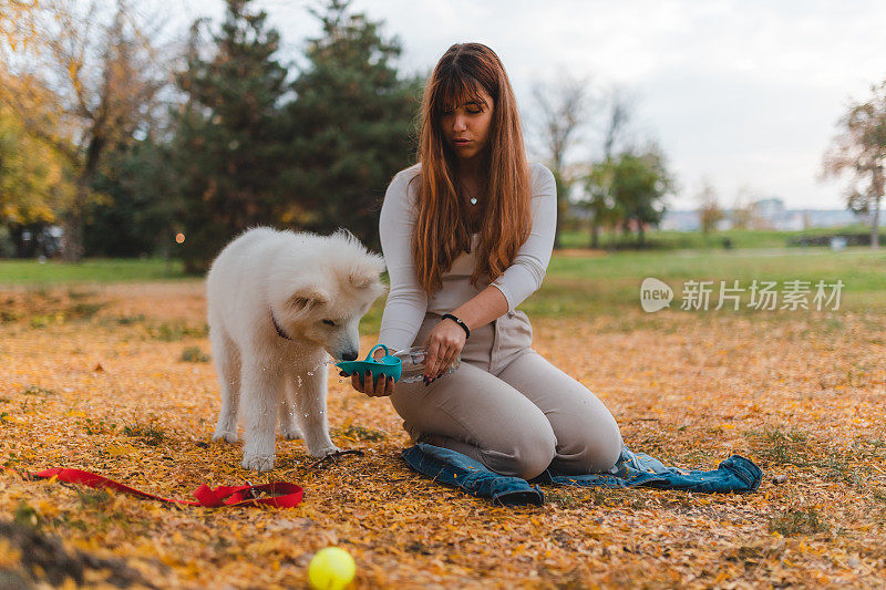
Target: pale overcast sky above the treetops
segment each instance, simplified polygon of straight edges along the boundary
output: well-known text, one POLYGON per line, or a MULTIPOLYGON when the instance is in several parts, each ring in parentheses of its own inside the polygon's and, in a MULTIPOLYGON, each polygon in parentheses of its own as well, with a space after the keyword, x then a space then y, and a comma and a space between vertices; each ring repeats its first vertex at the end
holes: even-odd
MULTIPOLYGON (((183 2, 183 22, 216 21, 222 0, 183 2)), ((257 0, 297 62, 319 32, 317 1, 257 0)), ((822 154, 852 100, 886 77, 886 2, 876 0, 354 0, 402 46, 400 68, 429 71, 452 44, 478 41, 502 59, 532 126, 535 81, 558 71, 635 97, 633 131, 661 145, 693 208, 702 178, 723 206, 744 188, 789 208, 842 208, 846 180, 817 180, 822 154)), ((599 152, 586 134, 574 158, 599 152)), ((538 159, 538 158, 534 158, 538 159)))

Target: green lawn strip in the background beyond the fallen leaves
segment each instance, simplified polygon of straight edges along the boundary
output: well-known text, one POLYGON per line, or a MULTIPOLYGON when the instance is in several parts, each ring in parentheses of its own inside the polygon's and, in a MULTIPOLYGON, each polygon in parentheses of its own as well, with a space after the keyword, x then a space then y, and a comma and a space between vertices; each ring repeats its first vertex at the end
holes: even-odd
MULTIPOLYGON (((886 313, 886 250, 847 248, 833 252, 826 248, 733 249, 733 250, 642 250, 597 252, 575 257, 554 255, 542 289, 524 301, 519 309, 533 317, 604 315, 640 309, 640 283, 655 277, 668 283, 674 298, 671 310, 679 313, 684 282, 712 280, 711 306, 707 313, 766 312, 748 308, 753 279, 776 281, 779 307, 784 281, 810 281, 812 293, 817 281, 843 281, 841 310, 886 313), (745 289, 739 310, 713 311, 720 282, 731 287, 739 281, 745 289)), ((163 260, 87 260, 81 265, 37 261, 0 261, 0 286, 24 284, 48 288, 53 284, 110 281, 152 281, 184 279, 178 262, 163 260)), ((387 279, 385 279, 387 280, 387 279)), ((384 300, 380 299, 364 317, 361 329, 378 330, 384 300)), ((796 313, 804 311, 797 310, 796 313)), ((771 314, 771 312, 769 312, 771 314)), ((815 313, 810 310, 808 313, 815 313)), ((821 312, 817 312, 821 313, 821 312)), ((651 317, 651 315, 650 315, 651 317)), ((709 315, 714 317, 714 315, 709 315)))

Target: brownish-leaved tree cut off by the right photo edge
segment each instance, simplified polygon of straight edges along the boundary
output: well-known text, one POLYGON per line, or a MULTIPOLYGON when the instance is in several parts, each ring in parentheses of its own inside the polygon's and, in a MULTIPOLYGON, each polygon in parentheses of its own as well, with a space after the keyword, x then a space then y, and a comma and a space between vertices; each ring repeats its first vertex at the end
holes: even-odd
POLYGON ((841 132, 824 156, 822 176, 852 173, 846 205, 870 216, 870 248, 877 249, 886 177, 886 81, 870 91, 870 99, 852 104, 839 120, 841 132))

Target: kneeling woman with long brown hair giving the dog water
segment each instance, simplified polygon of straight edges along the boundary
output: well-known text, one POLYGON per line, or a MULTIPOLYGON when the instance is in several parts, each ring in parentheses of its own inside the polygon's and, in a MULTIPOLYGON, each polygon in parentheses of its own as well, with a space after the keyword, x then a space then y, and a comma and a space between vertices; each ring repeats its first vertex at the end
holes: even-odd
POLYGON ((441 58, 418 156, 381 210, 391 289, 379 342, 427 346, 424 383, 354 373, 352 386, 390 395, 414 442, 503 475, 609 469, 622 445, 615 418, 530 348, 529 320, 514 309, 542 286, 557 197, 550 170, 526 162, 514 93, 490 48, 455 44, 441 58), (437 380, 459 354, 461 368, 437 380))

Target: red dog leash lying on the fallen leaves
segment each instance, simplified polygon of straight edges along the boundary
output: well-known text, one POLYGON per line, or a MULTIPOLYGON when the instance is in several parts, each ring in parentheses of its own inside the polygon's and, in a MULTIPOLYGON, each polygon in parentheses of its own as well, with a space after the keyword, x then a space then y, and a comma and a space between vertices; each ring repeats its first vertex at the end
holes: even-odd
POLYGON ((303 494, 301 486, 289 484, 287 482, 272 482, 270 484, 261 484, 258 486, 218 486, 215 489, 210 488, 206 484, 203 484, 193 491, 194 497, 197 498, 197 501, 192 501, 176 500, 174 498, 162 498, 159 496, 148 494, 147 491, 142 491, 140 489, 123 485, 120 482, 114 482, 113 479, 109 479, 90 472, 83 472, 81 469, 54 467, 52 469, 45 469, 43 472, 28 475, 32 477, 45 478, 54 477, 59 482, 66 482, 69 484, 82 484, 84 486, 94 488, 110 488, 117 491, 125 491, 126 494, 132 494, 133 496, 138 496, 141 498, 150 498, 152 500, 161 500, 173 504, 186 504, 188 506, 257 506, 261 504, 267 506, 276 506, 278 508, 295 508, 301 503, 303 494), (256 497, 256 493, 261 491, 274 494, 274 496, 268 496, 266 498, 256 497))

